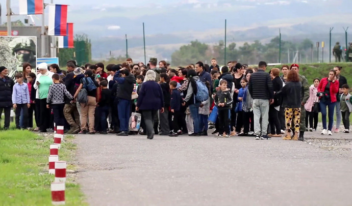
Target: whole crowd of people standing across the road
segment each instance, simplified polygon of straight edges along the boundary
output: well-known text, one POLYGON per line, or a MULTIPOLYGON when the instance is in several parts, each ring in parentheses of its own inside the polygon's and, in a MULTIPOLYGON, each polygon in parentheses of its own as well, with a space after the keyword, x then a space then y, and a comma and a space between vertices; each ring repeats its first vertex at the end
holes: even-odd
POLYGON ((215 128, 211 133, 217 137, 271 139, 284 134, 283 139, 303 141, 305 132, 317 130, 321 112, 321 134, 339 132, 341 121, 343 132, 349 133, 352 104, 341 67, 315 78, 311 86, 297 64, 269 72, 266 67, 265 62, 248 67, 231 61, 220 69, 213 58, 211 65, 197 62, 173 69, 152 57, 147 65, 134 64, 131 58, 107 66, 79 67, 69 61, 66 71, 41 63, 35 74, 24 63, 15 83, 2 66, 0 116, 4 110, 4 128, 9 129, 13 107, 17 129, 39 132, 63 125, 68 134, 141 134, 153 139, 156 134, 204 136, 215 128), (138 119, 133 113, 141 116, 137 131, 131 130, 131 120, 135 128, 138 119))

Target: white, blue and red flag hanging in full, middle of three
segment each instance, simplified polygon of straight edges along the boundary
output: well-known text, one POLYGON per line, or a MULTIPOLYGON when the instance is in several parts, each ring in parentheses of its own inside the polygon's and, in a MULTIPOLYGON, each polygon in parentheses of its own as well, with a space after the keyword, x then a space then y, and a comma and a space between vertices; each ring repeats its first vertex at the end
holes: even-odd
POLYGON ((67 5, 49 4, 48 35, 66 36, 67 5))

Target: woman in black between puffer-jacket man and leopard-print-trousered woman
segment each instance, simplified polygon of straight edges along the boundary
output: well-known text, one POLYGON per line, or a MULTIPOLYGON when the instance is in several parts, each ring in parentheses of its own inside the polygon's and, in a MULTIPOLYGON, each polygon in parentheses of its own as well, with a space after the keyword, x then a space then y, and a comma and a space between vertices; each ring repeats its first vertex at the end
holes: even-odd
MULTIPOLYGON (((272 68, 270 70, 274 94, 279 92, 282 88, 282 80, 279 75, 279 68, 272 68)), ((280 100, 281 98, 274 98, 274 103, 269 106, 270 134, 268 134, 268 136, 270 137, 281 137, 281 124, 279 121, 280 100)))

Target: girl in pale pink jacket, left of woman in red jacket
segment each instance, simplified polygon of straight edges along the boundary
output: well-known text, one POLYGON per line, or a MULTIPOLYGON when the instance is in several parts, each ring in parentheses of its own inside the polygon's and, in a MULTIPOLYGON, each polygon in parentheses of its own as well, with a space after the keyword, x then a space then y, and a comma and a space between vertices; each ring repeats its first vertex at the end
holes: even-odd
POLYGON ((313 80, 313 84, 309 87, 309 99, 305 104, 306 109, 306 128, 308 128, 308 120, 309 120, 309 131, 316 131, 318 125, 318 112, 313 112, 312 108, 315 102, 319 102, 319 98, 317 97, 318 85, 320 80, 315 78, 313 80), (314 120, 314 125, 313 125, 314 120))

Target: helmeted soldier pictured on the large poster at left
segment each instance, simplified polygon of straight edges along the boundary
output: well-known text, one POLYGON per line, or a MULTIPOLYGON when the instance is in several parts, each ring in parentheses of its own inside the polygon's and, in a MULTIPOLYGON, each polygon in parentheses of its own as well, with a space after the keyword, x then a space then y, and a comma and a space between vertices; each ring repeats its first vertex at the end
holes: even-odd
POLYGON ((17 70, 12 70, 9 76, 13 79, 17 72, 22 72, 22 65, 28 62, 33 68, 36 67, 36 44, 31 37, 14 38, 9 43, 13 55, 17 58, 17 70))

